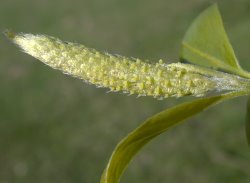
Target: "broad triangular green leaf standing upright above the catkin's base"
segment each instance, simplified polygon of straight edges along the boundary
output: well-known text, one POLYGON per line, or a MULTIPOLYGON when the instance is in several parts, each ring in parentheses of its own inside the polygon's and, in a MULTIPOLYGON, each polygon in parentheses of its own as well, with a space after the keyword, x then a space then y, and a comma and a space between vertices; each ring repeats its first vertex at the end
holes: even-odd
POLYGON ((189 27, 182 41, 181 59, 250 76, 238 63, 216 4, 202 12, 189 27))

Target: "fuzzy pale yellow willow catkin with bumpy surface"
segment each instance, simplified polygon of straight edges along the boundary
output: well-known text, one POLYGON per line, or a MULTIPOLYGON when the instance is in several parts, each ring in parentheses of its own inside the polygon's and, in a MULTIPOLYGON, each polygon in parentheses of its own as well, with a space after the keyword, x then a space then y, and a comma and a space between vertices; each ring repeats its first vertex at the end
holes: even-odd
POLYGON ((188 64, 166 65, 162 60, 150 64, 50 36, 7 34, 26 53, 45 64, 111 91, 156 98, 199 97, 210 91, 238 90, 240 86, 237 77, 188 64))

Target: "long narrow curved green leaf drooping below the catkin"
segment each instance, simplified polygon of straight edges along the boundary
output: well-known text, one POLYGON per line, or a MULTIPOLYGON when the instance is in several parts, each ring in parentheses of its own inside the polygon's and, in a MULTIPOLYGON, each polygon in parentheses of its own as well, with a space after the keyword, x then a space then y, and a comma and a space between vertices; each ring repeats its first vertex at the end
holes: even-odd
POLYGON ((154 137, 213 104, 243 94, 245 93, 228 93, 220 96, 197 99, 166 109, 150 117, 116 146, 103 172, 101 183, 119 182, 120 176, 131 159, 154 137))

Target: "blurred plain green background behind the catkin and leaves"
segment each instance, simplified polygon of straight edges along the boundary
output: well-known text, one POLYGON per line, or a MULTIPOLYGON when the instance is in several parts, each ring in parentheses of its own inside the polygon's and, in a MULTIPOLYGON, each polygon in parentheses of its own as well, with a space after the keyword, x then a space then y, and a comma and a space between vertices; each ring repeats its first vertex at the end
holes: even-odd
MULTIPOLYGON (((180 41, 212 0, 1 0, 0 30, 42 33, 124 56, 178 61, 180 41)), ((250 70, 250 1, 221 0, 225 27, 250 70)), ((96 183, 115 145, 183 101, 106 93, 22 53, 0 36, 0 182, 96 183)), ((184 99, 186 100, 186 99, 184 99)), ((246 98, 161 135, 122 183, 248 183, 246 98)))

